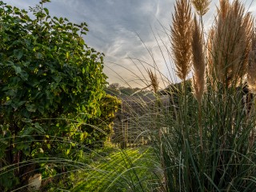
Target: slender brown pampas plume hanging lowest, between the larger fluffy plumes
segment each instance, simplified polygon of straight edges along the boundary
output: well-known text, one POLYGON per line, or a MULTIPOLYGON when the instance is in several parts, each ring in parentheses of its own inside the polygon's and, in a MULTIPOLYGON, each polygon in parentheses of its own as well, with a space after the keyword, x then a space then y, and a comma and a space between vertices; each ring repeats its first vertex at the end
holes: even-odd
POLYGON ((194 17, 192 33, 192 55, 193 55, 193 81, 194 97, 202 103, 202 94, 205 90, 205 60, 202 49, 202 34, 197 19, 194 17))

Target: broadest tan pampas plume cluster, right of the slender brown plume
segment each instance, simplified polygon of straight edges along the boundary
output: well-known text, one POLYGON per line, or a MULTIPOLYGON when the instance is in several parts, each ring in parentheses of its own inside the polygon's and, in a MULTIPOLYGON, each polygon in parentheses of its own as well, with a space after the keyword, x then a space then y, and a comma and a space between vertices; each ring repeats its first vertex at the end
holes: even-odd
POLYGON ((253 19, 238 0, 220 0, 215 19, 210 62, 223 85, 237 84, 246 74, 253 19))

